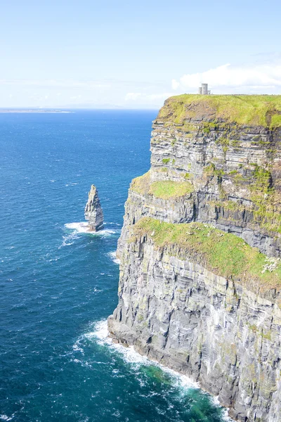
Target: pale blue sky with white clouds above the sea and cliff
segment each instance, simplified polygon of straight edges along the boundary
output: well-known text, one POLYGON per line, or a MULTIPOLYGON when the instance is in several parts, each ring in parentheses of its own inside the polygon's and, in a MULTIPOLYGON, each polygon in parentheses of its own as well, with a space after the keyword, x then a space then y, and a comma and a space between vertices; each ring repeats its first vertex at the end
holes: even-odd
POLYGON ((0 108, 281 94, 280 0, 0 0, 0 108))

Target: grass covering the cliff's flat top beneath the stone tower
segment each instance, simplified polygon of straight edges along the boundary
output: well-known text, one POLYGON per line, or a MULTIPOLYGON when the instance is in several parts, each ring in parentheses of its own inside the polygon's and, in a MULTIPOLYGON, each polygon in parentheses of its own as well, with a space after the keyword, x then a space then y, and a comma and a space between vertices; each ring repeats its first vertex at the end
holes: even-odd
POLYGON ((194 117, 274 129, 281 127, 281 96, 183 94, 168 98, 157 119, 184 123, 194 117))

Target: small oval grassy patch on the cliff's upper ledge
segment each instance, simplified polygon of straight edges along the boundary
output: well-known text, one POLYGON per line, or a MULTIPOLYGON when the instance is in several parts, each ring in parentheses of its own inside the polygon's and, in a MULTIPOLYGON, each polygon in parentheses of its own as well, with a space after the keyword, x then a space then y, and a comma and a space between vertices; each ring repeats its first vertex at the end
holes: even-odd
POLYGON ((131 183, 131 189, 135 192, 155 196, 155 198, 169 199, 187 195, 193 191, 193 186, 189 181, 161 180, 150 184, 149 172, 143 176, 136 177, 131 183))

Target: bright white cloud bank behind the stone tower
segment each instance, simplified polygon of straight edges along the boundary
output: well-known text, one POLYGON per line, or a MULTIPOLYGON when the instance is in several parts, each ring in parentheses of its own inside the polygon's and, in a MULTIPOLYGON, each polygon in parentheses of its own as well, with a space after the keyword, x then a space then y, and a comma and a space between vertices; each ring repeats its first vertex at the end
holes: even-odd
POLYGON ((194 90, 202 82, 207 82, 212 91, 275 91, 281 90, 281 63, 266 63, 259 65, 218 66, 206 72, 183 75, 179 82, 172 80, 173 89, 194 90))

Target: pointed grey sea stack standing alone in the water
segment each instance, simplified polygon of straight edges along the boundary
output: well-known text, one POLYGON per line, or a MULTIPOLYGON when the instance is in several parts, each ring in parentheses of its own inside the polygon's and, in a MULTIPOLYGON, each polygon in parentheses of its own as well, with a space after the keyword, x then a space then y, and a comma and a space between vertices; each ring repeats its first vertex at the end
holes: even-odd
POLYGON ((103 228, 103 208, 100 206, 98 189, 95 185, 92 185, 91 191, 89 191, 85 219, 89 220, 89 231, 98 231, 103 228))

